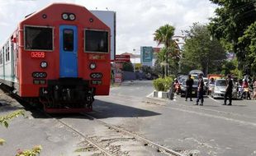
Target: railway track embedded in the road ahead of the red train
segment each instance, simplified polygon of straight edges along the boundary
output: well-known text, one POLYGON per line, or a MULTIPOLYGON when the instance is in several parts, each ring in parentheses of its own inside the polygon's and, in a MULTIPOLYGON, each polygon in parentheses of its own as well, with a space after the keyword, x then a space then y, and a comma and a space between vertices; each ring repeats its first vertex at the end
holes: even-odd
MULTIPOLYGON (((146 146, 146 148, 152 149, 153 151, 155 151, 156 154, 169 155, 169 156, 184 156, 183 154, 179 154, 178 152, 174 151, 173 149, 168 149, 162 145, 154 143, 151 140, 147 140, 146 138, 144 138, 140 135, 136 135, 133 132, 126 131, 121 127, 113 126, 111 124, 108 124, 107 122, 103 122, 100 119, 92 117, 88 113, 81 113, 81 114, 83 116, 89 117, 93 121, 97 121, 98 123, 100 123, 104 126, 107 126, 107 129, 109 131, 114 131, 114 133, 116 133, 116 137, 114 139, 115 142, 118 142, 118 141, 126 142, 127 140, 131 140, 134 142, 140 142, 141 145, 146 146), (118 136, 118 135, 122 135, 122 136, 118 136)), ((119 145, 117 145, 116 147, 113 147, 113 146, 107 147, 106 145, 111 145, 111 143, 113 141, 111 139, 110 140, 102 139, 100 137, 98 137, 97 139, 95 139, 95 137, 90 138, 90 137, 88 137, 88 135, 84 135, 82 131, 79 131, 78 129, 69 125, 68 123, 61 121, 60 119, 55 118, 55 117, 51 116, 50 114, 45 113, 45 115, 47 117, 51 117, 51 118, 55 119, 55 121, 59 122, 63 126, 66 126, 69 129, 69 131, 73 131, 74 133, 78 134, 80 137, 83 138, 84 141, 88 142, 87 145, 94 146, 94 149, 97 148, 100 151, 100 154, 97 153, 98 155, 106 155, 106 156, 133 155, 133 154, 130 154, 130 151, 121 151, 120 147, 118 147, 119 145), (109 143, 106 143, 106 141, 109 141, 109 143)), ((84 149, 86 149, 86 147, 84 147, 84 149)), ((95 155, 97 155, 97 154, 95 154, 95 155)))

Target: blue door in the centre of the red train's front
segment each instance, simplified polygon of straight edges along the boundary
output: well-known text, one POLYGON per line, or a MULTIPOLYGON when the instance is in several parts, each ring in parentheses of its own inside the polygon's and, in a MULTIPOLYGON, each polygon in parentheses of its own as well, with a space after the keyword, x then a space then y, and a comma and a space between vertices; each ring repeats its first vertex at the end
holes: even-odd
POLYGON ((59 77, 78 77, 78 28, 59 26, 59 77))

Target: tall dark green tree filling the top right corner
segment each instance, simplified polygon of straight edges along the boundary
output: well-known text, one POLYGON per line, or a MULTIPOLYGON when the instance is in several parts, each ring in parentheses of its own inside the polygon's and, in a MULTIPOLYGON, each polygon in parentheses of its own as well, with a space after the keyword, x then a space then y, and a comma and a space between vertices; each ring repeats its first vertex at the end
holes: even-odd
POLYGON ((244 61, 248 59, 248 55, 245 53, 244 44, 239 44, 239 37, 242 37, 248 26, 256 21, 256 2, 246 0, 210 1, 220 6, 216 8, 216 17, 211 18, 209 26, 211 33, 217 39, 222 40, 222 43, 228 45, 225 46, 225 48, 230 48, 227 50, 236 53, 240 65, 245 65, 244 61))

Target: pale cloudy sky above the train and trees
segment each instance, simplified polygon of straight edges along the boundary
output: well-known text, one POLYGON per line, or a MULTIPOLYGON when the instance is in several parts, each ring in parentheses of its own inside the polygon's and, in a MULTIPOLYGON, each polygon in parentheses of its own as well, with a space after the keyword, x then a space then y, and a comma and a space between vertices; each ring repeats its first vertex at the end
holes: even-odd
POLYGON ((140 53, 140 46, 157 47, 154 31, 160 26, 173 25, 174 35, 182 35, 181 30, 189 30, 192 23, 208 23, 217 7, 209 0, 0 0, 0 45, 24 16, 52 2, 116 11, 116 54, 140 53))

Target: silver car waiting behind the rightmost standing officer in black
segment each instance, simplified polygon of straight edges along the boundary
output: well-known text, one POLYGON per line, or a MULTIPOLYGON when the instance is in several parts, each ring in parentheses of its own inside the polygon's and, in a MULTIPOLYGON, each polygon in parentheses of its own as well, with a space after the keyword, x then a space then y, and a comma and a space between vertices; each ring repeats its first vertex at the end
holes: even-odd
MULTIPOLYGON (((236 90, 234 82, 233 82, 233 84, 234 85, 233 85, 232 98, 237 99, 237 90, 236 90)), ((227 85, 227 82, 225 79, 217 79, 215 81, 213 90, 211 92, 211 97, 213 99, 224 98, 226 85, 227 85)))

